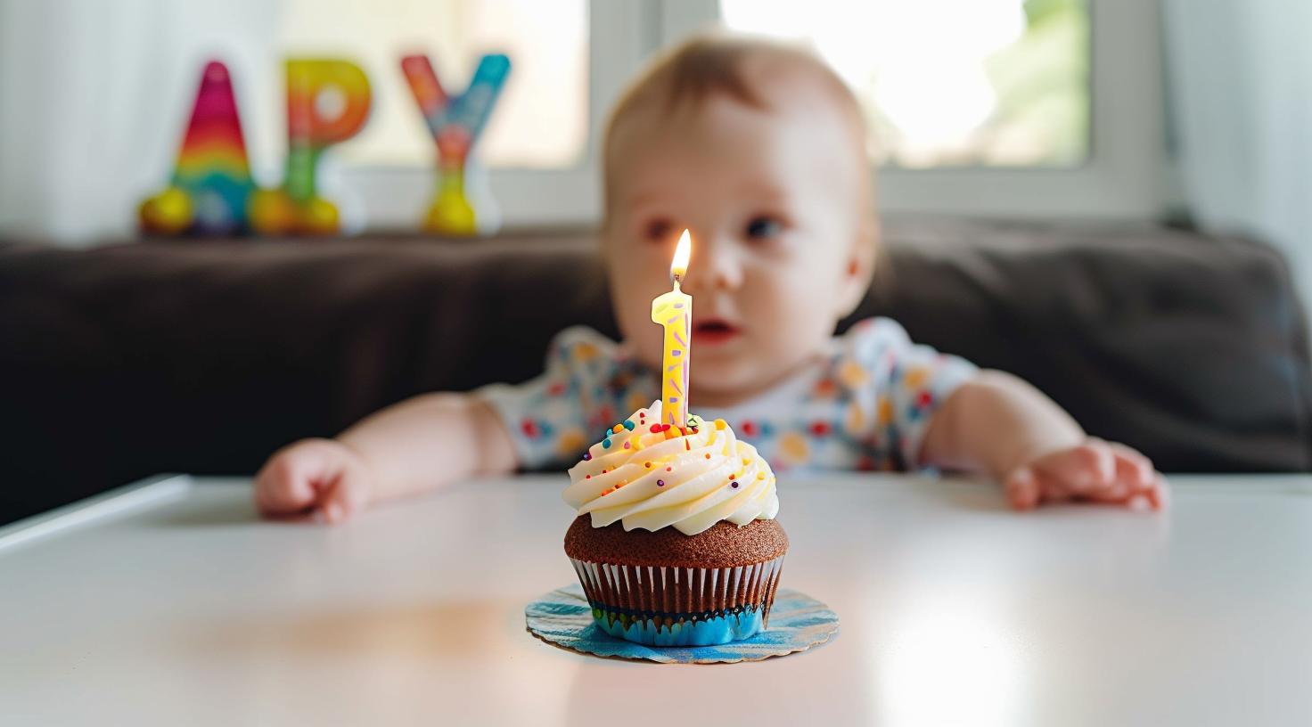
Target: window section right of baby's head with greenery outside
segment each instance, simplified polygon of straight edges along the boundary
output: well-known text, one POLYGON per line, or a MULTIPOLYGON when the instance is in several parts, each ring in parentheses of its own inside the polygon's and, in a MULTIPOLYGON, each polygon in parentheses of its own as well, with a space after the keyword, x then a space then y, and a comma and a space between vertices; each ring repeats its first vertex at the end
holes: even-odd
POLYGON ((1164 206, 1156 3, 664 0, 661 20, 666 43, 711 21, 810 37, 870 112, 886 211, 1145 219, 1164 206), (888 80, 899 52, 926 67, 888 80), (934 98, 945 87, 951 98, 934 98), (938 104, 971 113, 942 118, 938 104))

